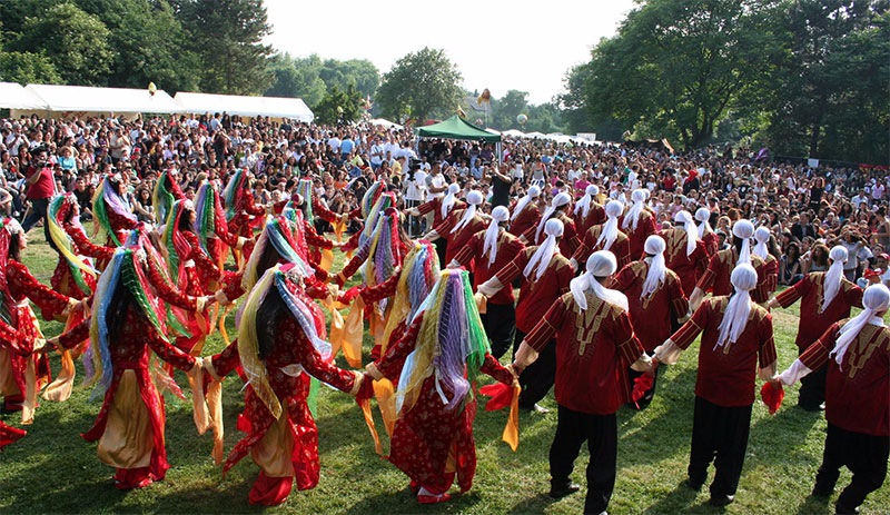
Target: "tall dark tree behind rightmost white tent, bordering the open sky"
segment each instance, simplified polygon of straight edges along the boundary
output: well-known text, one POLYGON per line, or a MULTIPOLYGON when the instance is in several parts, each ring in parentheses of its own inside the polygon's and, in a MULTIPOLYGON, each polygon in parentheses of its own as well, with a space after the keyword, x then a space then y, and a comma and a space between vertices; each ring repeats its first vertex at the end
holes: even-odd
POLYGON ((259 95, 273 82, 267 61, 271 32, 261 0, 174 0, 191 50, 200 58, 200 88, 259 95))

